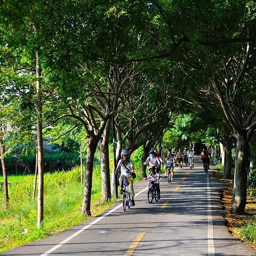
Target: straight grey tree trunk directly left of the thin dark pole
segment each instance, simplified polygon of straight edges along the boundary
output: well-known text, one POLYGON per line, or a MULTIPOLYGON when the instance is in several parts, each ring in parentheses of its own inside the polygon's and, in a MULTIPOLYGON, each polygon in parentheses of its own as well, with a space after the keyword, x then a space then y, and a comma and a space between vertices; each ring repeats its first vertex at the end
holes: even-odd
POLYGON ((110 168, 109 168, 109 131, 110 131, 111 119, 108 119, 103 138, 100 140, 100 155, 101 155, 101 175, 102 175, 102 201, 106 201, 111 198, 111 186, 110 186, 110 168))

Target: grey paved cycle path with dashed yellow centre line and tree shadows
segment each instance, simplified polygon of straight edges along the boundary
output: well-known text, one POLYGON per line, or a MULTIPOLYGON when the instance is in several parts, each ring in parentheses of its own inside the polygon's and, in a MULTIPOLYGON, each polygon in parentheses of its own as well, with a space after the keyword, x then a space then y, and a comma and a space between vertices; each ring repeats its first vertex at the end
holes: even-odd
POLYGON ((175 168, 175 179, 161 178, 161 199, 147 200, 147 181, 134 185, 136 206, 116 204, 55 236, 17 247, 1 256, 256 256, 256 250, 230 235, 220 201, 226 186, 205 175, 199 157, 195 168, 175 168))

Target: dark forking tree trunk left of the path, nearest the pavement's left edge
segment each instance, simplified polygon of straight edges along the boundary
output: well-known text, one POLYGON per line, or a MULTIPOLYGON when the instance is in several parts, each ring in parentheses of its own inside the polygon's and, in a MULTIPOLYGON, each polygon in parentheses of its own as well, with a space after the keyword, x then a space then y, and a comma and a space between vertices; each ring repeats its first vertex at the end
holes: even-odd
POLYGON ((96 152, 97 143, 92 138, 87 136, 87 156, 84 177, 84 199, 81 208, 81 214, 91 216, 90 202, 92 195, 92 182, 93 182, 93 158, 96 152))

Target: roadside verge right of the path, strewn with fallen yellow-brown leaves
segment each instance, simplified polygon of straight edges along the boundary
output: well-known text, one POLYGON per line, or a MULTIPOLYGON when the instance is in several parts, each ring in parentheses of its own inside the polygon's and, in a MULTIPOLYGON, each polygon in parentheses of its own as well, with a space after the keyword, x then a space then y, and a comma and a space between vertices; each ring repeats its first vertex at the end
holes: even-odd
MULTIPOLYGON (((215 176, 221 178, 221 171, 215 172, 215 176)), ((224 206, 224 218, 227 221, 227 228, 230 233, 245 242, 246 244, 256 249, 256 198, 250 196, 250 191, 247 192, 247 204, 244 215, 236 215, 230 212, 232 207, 231 199, 233 194, 233 182, 224 180, 229 183, 227 189, 222 191, 222 204, 224 206)))

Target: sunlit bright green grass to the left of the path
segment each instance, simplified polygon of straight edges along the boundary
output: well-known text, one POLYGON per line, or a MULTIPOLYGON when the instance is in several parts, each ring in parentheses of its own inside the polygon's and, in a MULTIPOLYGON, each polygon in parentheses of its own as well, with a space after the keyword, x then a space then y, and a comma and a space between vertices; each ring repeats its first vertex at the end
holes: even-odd
MULTIPOLYGON (((0 191, 0 252, 21 244, 42 239, 89 219, 80 215, 84 186, 80 184, 80 168, 44 175, 44 227, 37 228, 37 195, 32 198, 34 175, 11 175, 9 208, 4 209, 0 191), (28 230, 24 234, 24 230, 28 230)), ((138 179, 137 179, 138 180, 138 179)), ((100 202, 100 167, 93 170, 91 212, 99 215, 116 200, 100 202)))

